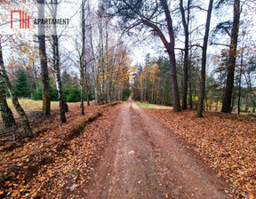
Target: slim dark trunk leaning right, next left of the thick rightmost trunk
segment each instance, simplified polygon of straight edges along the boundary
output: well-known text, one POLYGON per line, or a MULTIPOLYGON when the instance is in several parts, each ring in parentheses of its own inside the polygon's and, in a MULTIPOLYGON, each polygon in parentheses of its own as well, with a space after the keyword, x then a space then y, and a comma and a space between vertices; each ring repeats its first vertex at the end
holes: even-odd
POLYGON ((206 68, 207 44, 208 44, 211 15, 212 15, 212 4, 213 4, 213 0, 210 0, 208 11, 207 11, 205 33, 204 33, 204 45, 203 45, 201 81, 200 81, 200 98, 199 98, 199 104, 198 104, 197 113, 196 113, 196 116, 198 117, 203 116, 203 110, 204 110, 205 73, 206 73, 205 68, 206 68))

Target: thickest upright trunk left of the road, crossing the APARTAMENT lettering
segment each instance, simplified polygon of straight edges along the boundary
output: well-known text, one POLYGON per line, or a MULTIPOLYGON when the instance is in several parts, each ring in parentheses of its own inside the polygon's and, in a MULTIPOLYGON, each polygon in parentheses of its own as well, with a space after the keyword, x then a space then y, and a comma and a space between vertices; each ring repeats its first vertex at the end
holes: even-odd
MULTIPOLYGON (((38 5, 38 19, 44 19, 44 0, 37 0, 38 5)), ((42 90, 43 90, 43 113, 44 115, 51 115, 51 95, 49 73, 47 65, 47 57, 45 50, 45 35, 44 26, 38 28, 38 43, 39 43, 39 57, 41 61, 42 70, 42 90)))

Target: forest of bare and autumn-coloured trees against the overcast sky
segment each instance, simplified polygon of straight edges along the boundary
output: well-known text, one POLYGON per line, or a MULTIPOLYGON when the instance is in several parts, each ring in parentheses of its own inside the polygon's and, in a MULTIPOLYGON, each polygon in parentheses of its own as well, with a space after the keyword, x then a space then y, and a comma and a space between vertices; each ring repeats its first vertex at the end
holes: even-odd
POLYGON ((28 3, 4 1, 3 26, 10 25, 11 8, 36 9, 39 19, 58 19, 67 15, 67 4, 76 11, 76 23, 34 27, 28 36, 21 30, 1 36, 0 107, 6 128, 15 125, 6 97, 28 135, 32 132, 19 98, 43 100, 44 115, 51 115, 51 100, 59 100, 62 123, 67 122, 67 102, 80 101, 84 115, 84 101, 90 106, 90 100, 103 104, 131 95, 177 112, 194 108, 197 116, 204 110, 255 112, 251 0, 82 0, 77 10, 57 0, 28 3), (134 59, 136 45, 149 48, 150 41, 156 54, 134 63, 132 50, 134 59))

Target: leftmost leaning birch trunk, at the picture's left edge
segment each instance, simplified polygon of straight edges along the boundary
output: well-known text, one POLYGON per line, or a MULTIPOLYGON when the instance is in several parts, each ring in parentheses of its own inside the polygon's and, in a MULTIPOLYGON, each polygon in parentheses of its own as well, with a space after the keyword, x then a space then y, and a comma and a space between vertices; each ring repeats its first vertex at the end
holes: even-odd
POLYGON ((15 119, 12 114, 12 110, 10 107, 8 107, 7 101, 6 101, 6 81, 4 78, 4 71, 2 71, 2 68, 4 68, 4 60, 3 60, 3 54, 2 54, 2 47, 1 47, 1 41, 0 41, 0 111, 2 115, 2 120, 4 123, 5 128, 9 128, 12 126, 15 126, 15 119))

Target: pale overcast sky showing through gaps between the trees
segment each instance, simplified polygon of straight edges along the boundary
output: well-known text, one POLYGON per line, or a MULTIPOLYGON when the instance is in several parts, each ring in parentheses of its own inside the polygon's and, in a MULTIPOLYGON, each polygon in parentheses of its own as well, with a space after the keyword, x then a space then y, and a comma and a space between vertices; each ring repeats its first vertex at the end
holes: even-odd
MULTIPOLYGON (((199 2, 199 1, 197 1, 199 2)), ((97 1, 91 1, 91 8, 97 8, 97 1)), ((176 1, 175 4, 178 4, 176 1)), ((1 5, 2 6, 2 5, 1 5)), ((81 0, 62 0, 61 4, 59 5, 58 9, 58 18, 63 18, 63 19, 70 19, 68 27, 63 26, 59 27, 58 26, 58 32, 59 34, 61 33, 63 36, 61 36, 61 44, 65 46, 66 52, 74 52, 74 41, 71 38, 76 37, 77 31, 79 31, 80 27, 80 6, 81 6, 81 0)), ((173 4, 174 6, 174 4, 173 4)), ((208 1, 204 1, 204 9, 207 9, 208 7, 208 1)), ((34 27, 32 23, 34 18, 37 18, 37 8, 36 4, 17 4, 16 7, 8 7, 7 5, 2 6, 1 10, 1 20, 4 22, 7 22, 5 25, 2 25, 0 28, 0 34, 7 34, 7 35, 20 35, 20 38, 24 39, 31 39, 33 35, 37 34, 37 28, 34 27), (25 12, 28 12, 28 15, 30 16, 30 28, 29 29, 20 29, 19 28, 19 21, 13 23, 14 29, 10 28, 10 23, 8 23, 8 20, 10 21, 10 11, 11 10, 23 10, 25 12)), ((252 20, 255 20, 255 14, 252 14, 250 12, 244 12, 241 15, 241 20, 249 19, 252 18, 252 20), (244 14, 246 13, 246 14, 244 14)), ((202 44, 203 43, 203 37, 204 37, 204 23, 206 20, 206 13, 205 12, 200 12, 196 11, 196 13, 192 12, 194 15, 191 28, 196 28, 199 25, 203 25, 201 27, 201 31, 197 33, 196 35, 194 34, 192 36, 192 39, 195 41, 194 43, 202 44)), ((229 6, 227 7, 227 12, 212 12, 212 24, 211 24, 211 30, 212 28, 215 28, 218 22, 220 20, 231 20, 233 15, 233 7, 229 6)), ((15 14, 14 18, 17 20, 19 17, 19 14, 15 14)), ((179 16, 173 18, 173 25, 174 26, 180 26, 180 21, 179 16)), ((241 28, 240 28, 241 29, 241 28)), ((250 36, 252 37, 252 40, 256 40, 254 32, 256 31, 254 24, 249 28, 251 33, 250 36)), ((182 34, 183 30, 180 29, 180 33, 182 34)), ((146 34, 149 34, 146 31, 146 34)), ((51 35, 51 32, 49 32, 51 35)), ((179 34, 180 35, 180 34, 179 34)), ((156 37, 150 37, 150 39, 145 40, 145 41, 136 41, 136 37, 125 37, 125 41, 131 45, 130 51, 131 51, 131 58, 132 58, 132 64, 136 63, 141 63, 143 64, 145 61, 145 56, 147 53, 150 53, 151 57, 158 57, 159 55, 164 55, 164 45, 161 43, 160 39, 156 37)), ((178 39, 176 39, 176 47, 178 48, 183 48, 184 44, 180 42, 183 37, 179 36, 178 39)), ((223 43, 229 43, 229 39, 226 36, 220 36, 220 42, 223 43)), ((223 47, 220 46, 209 46, 208 48, 208 54, 211 55, 214 52, 220 52, 220 50, 223 47)), ((7 49, 7 48, 6 48, 7 49)), ((178 54, 178 51, 176 51, 178 54)), ((6 60, 6 57, 8 57, 8 52, 4 54, 4 59, 6 60), (7 56, 6 56, 7 55, 7 56)), ((211 70, 211 69, 210 69, 211 70)))

